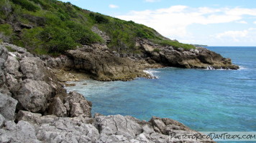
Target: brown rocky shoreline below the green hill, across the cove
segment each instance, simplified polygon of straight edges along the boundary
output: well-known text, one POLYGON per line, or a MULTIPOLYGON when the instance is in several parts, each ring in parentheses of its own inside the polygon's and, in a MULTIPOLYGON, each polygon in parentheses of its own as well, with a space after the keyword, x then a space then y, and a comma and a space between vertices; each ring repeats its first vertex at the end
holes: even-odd
POLYGON ((175 49, 171 46, 159 46, 145 39, 138 40, 137 47, 140 47, 140 54, 124 54, 111 51, 106 45, 93 44, 66 51, 65 55, 55 58, 40 58, 52 69, 63 70, 55 71, 63 82, 76 80, 77 78, 73 77, 78 75, 77 73, 83 73, 83 76, 80 76, 83 79, 105 82, 128 81, 136 77, 150 78, 143 70, 166 66, 187 69, 239 69, 239 66, 232 64, 231 59, 202 47, 190 50, 175 49), (70 71, 76 74, 69 77, 70 71))

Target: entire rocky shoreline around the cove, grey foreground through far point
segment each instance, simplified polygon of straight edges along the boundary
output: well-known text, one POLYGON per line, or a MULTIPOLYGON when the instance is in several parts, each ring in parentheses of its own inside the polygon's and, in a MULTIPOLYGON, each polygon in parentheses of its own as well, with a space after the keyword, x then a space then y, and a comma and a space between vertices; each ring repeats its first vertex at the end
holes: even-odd
POLYGON ((122 115, 92 117, 92 103, 76 92, 67 94, 60 83, 82 77, 125 81, 148 77, 143 72, 146 68, 176 64, 187 68, 238 68, 230 59, 207 49, 183 51, 188 55, 181 61, 175 59, 181 51, 170 47, 157 53, 150 51, 150 46, 146 49, 151 56, 120 56, 101 46, 85 46, 52 58, 37 57, 12 44, 0 44, 0 142, 201 142, 170 138, 170 133, 198 133, 173 119, 152 117, 146 122, 122 115), (168 49, 178 54, 166 54, 168 49), (211 56, 202 56, 205 53, 211 56), (68 69, 76 72, 60 81, 55 70, 67 73, 68 69), (77 76, 77 71, 86 74, 77 76))

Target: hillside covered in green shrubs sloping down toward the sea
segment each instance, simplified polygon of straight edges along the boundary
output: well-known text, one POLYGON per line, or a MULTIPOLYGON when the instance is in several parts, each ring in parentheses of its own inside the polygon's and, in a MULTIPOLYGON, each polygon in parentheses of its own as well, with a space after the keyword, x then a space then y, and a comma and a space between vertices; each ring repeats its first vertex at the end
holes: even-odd
POLYGON ((110 49, 140 52, 135 39, 191 49, 194 46, 170 41, 154 29, 133 21, 124 21, 81 9, 56 0, 1 0, 0 41, 24 46, 37 54, 60 54, 84 44, 103 43, 91 31, 98 27, 111 37, 110 49))

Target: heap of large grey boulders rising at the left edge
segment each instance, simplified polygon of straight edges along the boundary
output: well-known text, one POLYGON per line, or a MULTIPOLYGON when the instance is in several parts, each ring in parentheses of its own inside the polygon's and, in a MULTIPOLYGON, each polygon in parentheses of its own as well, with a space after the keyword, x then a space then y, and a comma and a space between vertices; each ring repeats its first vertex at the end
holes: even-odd
POLYGON ((91 102, 81 94, 67 94, 44 61, 19 46, 0 46, 0 110, 6 119, 14 119, 14 112, 19 110, 58 117, 91 117, 91 102))

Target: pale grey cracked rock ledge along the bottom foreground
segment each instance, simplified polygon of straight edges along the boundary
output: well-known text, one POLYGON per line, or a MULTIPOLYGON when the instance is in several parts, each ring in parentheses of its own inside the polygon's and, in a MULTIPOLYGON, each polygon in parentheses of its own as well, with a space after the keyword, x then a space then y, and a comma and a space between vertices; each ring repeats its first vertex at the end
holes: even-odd
POLYGON ((171 138, 171 133, 198 133, 172 119, 152 117, 145 122, 122 115, 71 118, 24 111, 17 116, 17 124, 4 122, 0 130, 2 142, 199 142, 171 138), (17 133, 19 136, 14 136, 17 133))

